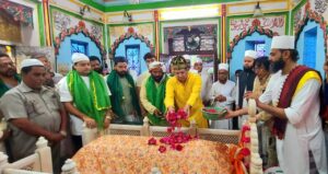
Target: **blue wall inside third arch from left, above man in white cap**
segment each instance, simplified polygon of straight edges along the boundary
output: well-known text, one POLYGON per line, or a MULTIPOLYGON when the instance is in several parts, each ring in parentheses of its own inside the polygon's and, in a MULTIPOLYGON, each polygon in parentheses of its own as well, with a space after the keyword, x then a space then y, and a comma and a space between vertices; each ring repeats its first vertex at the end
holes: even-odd
POLYGON ((234 47, 232 53, 232 59, 230 60, 230 77, 232 80, 235 80, 234 74, 237 69, 243 69, 244 62, 244 55, 245 50, 250 49, 249 42, 265 42, 266 44, 266 53, 265 56, 269 56, 270 47, 271 47, 271 39, 266 35, 260 35, 259 33, 255 32, 250 36, 246 36, 244 39, 239 40, 238 44, 234 47))

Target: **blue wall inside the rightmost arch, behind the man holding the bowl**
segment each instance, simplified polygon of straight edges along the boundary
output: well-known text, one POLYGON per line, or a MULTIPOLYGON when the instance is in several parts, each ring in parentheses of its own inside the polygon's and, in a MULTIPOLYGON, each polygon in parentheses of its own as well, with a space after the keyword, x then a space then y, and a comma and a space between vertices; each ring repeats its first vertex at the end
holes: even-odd
MULTIPOLYGON (((300 54, 300 60, 298 60, 298 63, 301 65, 307 65, 306 62, 311 62, 312 60, 306 60, 306 59, 315 59, 313 60, 312 62, 315 63, 313 68, 315 68, 316 70, 320 71, 321 76, 324 77, 325 76, 325 72, 324 72, 324 69, 323 69, 323 66, 324 66, 324 62, 325 62, 325 39, 324 39, 324 32, 323 30, 320 28, 319 24, 317 24, 316 22, 314 21, 308 21, 306 26, 304 26, 302 33, 300 34, 300 37, 298 37, 298 40, 297 40, 297 50, 298 50, 298 54, 300 54), (313 32, 313 30, 316 30, 316 43, 314 44, 315 47, 311 47, 311 48, 305 48, 305 45, 304 45, 304 35, 308 32, 313 32), (305 55, 308 55, 308 51, 307 50, 314 50, 315 51, 312 51, 314 54, 311 54, 311 57, 307 57, 306 56, 306 59, 305 59, 305 55)), ((311 66, 312 67, 312 66, 311 66)))

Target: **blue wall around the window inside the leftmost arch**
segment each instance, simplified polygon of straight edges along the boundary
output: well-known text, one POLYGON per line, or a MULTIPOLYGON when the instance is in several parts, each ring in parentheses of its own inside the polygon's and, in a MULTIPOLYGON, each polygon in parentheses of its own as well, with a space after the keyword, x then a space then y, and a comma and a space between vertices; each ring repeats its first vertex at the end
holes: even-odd
POLYGON ((67 36, 60 44, 59 54, 57 55, 57 66, 59 63, 66 63, 71 67, 71 39, 87 43, 87 55, 86 56, 97 56, 102 59, 101 50, 90 37, 85 37, 82 33, 72 34, 67 36))

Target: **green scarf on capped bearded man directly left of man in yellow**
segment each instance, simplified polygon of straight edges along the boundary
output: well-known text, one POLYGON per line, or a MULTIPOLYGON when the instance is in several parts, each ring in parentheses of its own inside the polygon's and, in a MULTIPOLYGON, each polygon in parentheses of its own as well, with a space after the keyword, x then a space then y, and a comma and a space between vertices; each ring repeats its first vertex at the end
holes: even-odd
MULTIPOLYGON (((167 82, 167 76, 164 74, 162 81, 156 86, 156 82, 152 77, 149 77, 145 82, 145 93, 148 101, 153 104, 162 114, 165 114, 166 107, 164 105, 165 98, 165 86, 167 82)), ((155 126, 167 126, 165 117, 162 119, 161 117, 155 116, 154 114, 148 114, 148 118, 152 125, 155 126)))

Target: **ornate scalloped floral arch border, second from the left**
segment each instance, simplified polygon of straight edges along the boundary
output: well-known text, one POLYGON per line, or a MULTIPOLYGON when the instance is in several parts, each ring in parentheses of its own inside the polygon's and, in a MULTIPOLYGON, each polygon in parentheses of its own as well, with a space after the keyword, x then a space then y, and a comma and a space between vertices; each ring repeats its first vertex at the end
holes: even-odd
POLYGON ((153 45, 151 44, 150 39, 148 37, 144 37, 141 34, 138 34, 134 32, 133 27, 128 28, 128 33, 120 35, 112 45, 112 54, 115 55, 116 48, 121 44, 125 39, 129 39, 130 37, 133 37, 136 39, 140 39, 141 42, 145 43, 148 47, 150 47, 150 50, 153 50, 153 45))

